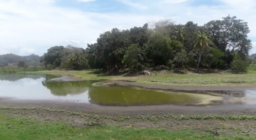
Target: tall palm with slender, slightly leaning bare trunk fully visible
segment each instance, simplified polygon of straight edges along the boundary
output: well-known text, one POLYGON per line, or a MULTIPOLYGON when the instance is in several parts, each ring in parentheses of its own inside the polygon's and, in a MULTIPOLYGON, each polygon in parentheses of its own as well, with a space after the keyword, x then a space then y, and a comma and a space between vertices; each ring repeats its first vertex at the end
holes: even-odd
MULTIPOLYGON (((197 36, 194 38, 194 43, 195 43, 194 49, 202 50, 198 60, 198 68, 199 68, 201 56, 203 54, 203 51, 209 47, 211 37, 208 36, 208 33, 204 30, 197 31, 196 34, 197 36)), ((196 69, 196 71, 198 71, 198 68, 196 69)))

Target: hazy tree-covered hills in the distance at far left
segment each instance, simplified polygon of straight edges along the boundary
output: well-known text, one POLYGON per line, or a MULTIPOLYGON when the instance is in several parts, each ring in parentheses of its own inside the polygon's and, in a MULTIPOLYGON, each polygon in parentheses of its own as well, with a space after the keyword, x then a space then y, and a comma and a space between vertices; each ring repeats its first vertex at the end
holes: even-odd
POLYGON ((40 56, 31 54, 28 56, 19 56, 16 54, 0 55, 0 67, 17 67, 19 61, 24 61, 28 66, 40 66, 40 56))

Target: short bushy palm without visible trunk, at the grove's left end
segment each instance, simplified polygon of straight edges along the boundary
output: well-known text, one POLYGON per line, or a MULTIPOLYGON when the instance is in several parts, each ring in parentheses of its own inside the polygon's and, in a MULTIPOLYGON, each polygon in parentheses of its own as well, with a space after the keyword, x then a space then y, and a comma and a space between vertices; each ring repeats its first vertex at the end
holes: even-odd
POLYGON ((86 64, 85 58, 78 53, 71 54, 67 62, 73 65, 75 67, 75 70, 78 70, 81 65, 86 64))

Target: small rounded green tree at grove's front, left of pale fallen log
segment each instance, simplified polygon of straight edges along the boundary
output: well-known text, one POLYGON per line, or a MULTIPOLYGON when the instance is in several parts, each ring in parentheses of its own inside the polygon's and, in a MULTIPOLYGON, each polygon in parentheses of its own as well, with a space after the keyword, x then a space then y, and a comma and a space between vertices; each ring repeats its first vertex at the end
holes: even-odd
POLYGON ((128 68, 136 68, 136 71, 138 72, 138 68, 142 66, 142 53, 138 43, 131 44, 125 52, 122 62, 126 64, 128 68))

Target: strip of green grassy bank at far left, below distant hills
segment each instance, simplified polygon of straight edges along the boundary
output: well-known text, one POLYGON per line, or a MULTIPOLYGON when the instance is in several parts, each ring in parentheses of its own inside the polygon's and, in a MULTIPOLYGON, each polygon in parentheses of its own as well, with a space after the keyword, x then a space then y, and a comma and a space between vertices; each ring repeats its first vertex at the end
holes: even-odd
POLYGON ((0 74, 12 74, 17 72, 45 71, 45 67, 0 67, 0 74))

